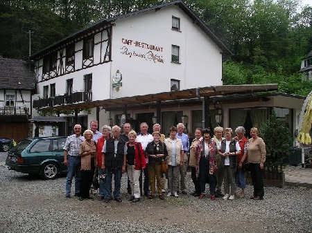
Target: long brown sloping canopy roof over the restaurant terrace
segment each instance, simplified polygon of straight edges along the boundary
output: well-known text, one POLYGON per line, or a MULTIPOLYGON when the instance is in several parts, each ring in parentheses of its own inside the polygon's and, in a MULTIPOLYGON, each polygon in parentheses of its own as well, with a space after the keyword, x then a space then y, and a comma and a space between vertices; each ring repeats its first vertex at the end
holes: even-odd
POLYGON ((212 97, 216 95, 232 95, 242 93, 256 93, 277 91, 277 84, 250 84, 250 85, 223 85, 223 86, 206 86, 202 88, 191 88, 182 91, 169 91, 164 93, 156 93, 149 95, 135 95, 132 97, 122 97, 117 99, 96 100, 91 102, 80 102, 67 104, 62 106, 53 106, 53 108, 44 108, 44 110, 74 110, 74 109, 90 109, 94 107, 102 107, 103 109, 114 106, 115 108, 128 104, 146 104, 153 102, 166 102, 169 100, 189 100, 197 97, 212 97))

